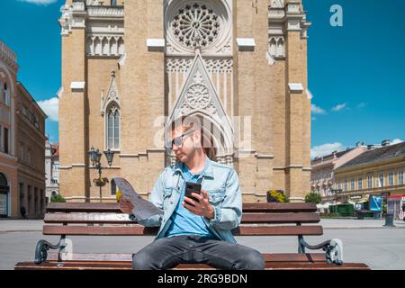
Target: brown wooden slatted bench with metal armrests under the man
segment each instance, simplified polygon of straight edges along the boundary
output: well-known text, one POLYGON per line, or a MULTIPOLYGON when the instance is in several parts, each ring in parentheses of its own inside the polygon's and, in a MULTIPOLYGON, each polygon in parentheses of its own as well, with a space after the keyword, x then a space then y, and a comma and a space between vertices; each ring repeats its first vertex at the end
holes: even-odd
MULTIPOLYGON (((232 231, 235 236, 293 236, 297 238, 298 253, 264 253, 266 269, 369 270, 365 264, 331 263, 331 242, 310 246, 304 236, 320 236, 320 216, 311 203, 244 203, 242 223, 232 231), (318 225, 317 225, 318 224, 318 225), (326 252, 306 253, 306 249, 326 252)), ((64 252, 67 236, 156 236, 157 228, 146 228, 122 214, 117 203, 49 203, 44 219, 43 235, 61 236, 57 245, 40 240, 35 261, 18 263, 15 270, 130 270, 131 254, 70 254, 64 252), (49 250, 55 252, 49 253, 49 250)), ((148 243, 145 243, 147 245, 148 243)), ((175 269, 214 269, 208 265, 181 264, 175 269)))

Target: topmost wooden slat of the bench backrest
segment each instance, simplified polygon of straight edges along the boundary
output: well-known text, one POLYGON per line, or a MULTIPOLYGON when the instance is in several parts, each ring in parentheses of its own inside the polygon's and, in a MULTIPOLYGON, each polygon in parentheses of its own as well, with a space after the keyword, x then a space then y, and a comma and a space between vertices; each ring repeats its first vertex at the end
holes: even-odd
MULTIPOLYGON (((76 202, 49 202, 47 206, 49 212, 110 212, 120 213, 118 203, 76 203, 76 202)), ((243 211, 245 212, 315 212, 317 207, 314 203, 257 203, 244 202, 243 211)))

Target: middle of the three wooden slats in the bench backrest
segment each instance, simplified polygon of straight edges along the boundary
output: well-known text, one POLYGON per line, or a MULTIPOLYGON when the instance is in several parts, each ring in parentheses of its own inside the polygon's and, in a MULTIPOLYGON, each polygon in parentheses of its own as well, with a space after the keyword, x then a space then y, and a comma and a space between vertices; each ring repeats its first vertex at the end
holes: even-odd
MULTIPOLYGON (((71 224, 134 224, 127 214, 118 213, 47 213, 45 223, 71 223, 71 224)), ((242 216, 242 223, 319 223, 320 216, 316 213, 246 213, 242 216)))

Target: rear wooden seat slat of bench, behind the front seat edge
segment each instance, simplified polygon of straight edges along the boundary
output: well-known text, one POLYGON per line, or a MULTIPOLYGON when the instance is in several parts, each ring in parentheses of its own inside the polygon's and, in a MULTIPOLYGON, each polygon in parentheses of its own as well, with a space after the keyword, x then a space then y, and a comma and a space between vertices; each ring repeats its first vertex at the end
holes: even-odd
MULTIPOLYGON (((262 253, 265 257, 266 262, 326 262, 326 257, 324 253, 262 253)), ((58 253, 49 252, 48 261, 57 261, 58 253)), ((73 253, 66 259, 62 255, 63 261, 73 261, 73 262, 132 262, 132 254, 121 253, 121 254, 109 254, 109 253, 73 253)))

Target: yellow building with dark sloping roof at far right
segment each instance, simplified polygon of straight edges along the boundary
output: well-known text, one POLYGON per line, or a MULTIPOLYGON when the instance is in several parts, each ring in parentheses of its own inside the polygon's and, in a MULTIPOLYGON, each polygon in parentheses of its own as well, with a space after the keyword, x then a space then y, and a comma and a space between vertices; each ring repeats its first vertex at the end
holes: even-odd
MULTIPOLYGON (((405 142, 368 151, 335 171, 336 188, 342 189, 338 200, 368 201, 370 195, 405 194, 405 142)), ((333 198, 333 197, 332 197, 333 198)))

